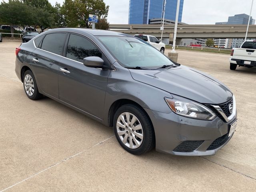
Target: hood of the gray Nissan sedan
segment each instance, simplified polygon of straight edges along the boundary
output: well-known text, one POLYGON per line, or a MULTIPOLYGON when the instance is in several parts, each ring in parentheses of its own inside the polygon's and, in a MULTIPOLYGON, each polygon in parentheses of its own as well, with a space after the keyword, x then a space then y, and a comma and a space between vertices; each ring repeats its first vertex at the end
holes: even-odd
POLYGON ((221 104, 232 98, 226 85, 186 66, 159 70, 129 69, 136 81, 204 104, 221 104))

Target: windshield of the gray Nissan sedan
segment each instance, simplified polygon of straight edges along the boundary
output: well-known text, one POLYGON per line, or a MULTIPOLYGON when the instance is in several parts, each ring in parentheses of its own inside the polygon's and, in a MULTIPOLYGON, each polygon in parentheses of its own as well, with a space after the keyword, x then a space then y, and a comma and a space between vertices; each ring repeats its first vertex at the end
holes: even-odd
POLYGON ((99 36, 98 39, 124 67, 156 69, 164 65, 174 65, 164 54, 137 38, 99 36))

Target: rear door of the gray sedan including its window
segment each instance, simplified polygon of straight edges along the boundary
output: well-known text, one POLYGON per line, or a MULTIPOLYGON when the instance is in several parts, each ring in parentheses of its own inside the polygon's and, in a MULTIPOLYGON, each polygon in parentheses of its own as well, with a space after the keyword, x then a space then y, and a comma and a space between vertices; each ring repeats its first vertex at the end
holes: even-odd
POLYGON ((43 94, 59 98, 59 61, 63 54, 67 33, 46 34, 35 39, 37 48, 31 54, 32 70, 43 94))

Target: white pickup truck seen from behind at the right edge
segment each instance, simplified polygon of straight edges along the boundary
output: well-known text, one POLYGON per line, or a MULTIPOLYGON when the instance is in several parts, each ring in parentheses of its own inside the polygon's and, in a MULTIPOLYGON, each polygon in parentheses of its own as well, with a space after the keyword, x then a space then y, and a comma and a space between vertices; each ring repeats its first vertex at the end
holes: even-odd
POLYGON ((233 48, 230 55, 231 70, 237 66, 256 67, 256 40, 245 41, 240 48, 233 48))

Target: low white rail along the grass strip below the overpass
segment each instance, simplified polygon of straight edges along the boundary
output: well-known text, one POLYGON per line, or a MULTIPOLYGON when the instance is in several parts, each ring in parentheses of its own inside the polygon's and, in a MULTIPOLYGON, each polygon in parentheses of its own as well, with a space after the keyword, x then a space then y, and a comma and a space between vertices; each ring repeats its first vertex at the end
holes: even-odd
MULTIPOLYGON (((170 48, 172 48, 172 44, 168 44, 166 46, 167 47, 170 46, 170 48)), ((183 45, 176 45, 175 48, 180 49, 180 50, 198 50, 198 51, 206 51, 206 52, 222 52, 222 53, 227 53, 227 54, 230 54, 230 52, 232 50, 232 49, 229 49, 229 48, 196 47, 196 46, 183 46, 183 45)))

